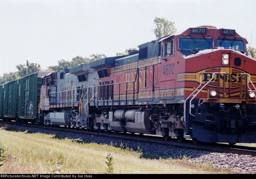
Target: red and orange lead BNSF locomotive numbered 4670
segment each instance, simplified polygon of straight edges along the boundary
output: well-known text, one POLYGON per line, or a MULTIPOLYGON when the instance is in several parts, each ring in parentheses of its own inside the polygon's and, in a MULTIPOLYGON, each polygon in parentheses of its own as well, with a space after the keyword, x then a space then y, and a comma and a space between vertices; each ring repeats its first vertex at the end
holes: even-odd
POLYGON ((123 58, 90 63, 88 126, 190 138, 256 142, 256 61, 233 29, 201 26, 139 45, 123 58))

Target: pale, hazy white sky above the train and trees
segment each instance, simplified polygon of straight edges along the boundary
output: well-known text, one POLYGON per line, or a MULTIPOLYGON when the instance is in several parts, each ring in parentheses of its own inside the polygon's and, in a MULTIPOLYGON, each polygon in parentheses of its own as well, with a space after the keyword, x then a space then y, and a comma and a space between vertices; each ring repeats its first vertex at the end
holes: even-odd
POLYGON ((177 31, 235 29, 256 47, 255 0, 0 0, 0 76, 26 60, 46 70, 76 56, 116 56, 155 40, 156 17, 177 31))

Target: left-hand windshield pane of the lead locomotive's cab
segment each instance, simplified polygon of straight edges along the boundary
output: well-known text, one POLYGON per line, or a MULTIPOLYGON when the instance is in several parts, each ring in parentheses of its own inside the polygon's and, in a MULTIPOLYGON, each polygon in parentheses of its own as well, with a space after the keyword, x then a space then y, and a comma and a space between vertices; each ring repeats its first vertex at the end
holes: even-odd
POLYGON ((194 50, 194 49, 207 49, 213 47, 212 38, 179 38, 179 49, 194 50))

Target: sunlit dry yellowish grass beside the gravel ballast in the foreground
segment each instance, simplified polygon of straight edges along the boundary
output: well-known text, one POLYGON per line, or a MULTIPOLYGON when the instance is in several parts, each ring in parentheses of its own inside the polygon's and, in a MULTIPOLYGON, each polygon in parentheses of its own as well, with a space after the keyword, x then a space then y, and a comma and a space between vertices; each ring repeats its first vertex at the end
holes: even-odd
POLYGON ((61 162, 65 166, 62 173, 100 174, 110 169, 110 158, 114 174, 232 173, 190 163, 190 156, 155 158, 143 153, 139 146, 137 151, 133 151, 123 144, 76 142, 55 135, 12 130, 6 126, 0 128, 0 136, 0 143, 7 149, 5 164, 1 167, 4 174, 48 174, 54 171, 54 167, 56 169, 55 164, 60 166, 61 162))

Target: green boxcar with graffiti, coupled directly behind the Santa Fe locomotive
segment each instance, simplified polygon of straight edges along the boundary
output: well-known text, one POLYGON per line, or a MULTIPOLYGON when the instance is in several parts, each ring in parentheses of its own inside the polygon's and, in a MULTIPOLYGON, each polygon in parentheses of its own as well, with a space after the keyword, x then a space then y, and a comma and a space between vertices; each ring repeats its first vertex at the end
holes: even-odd
POLYGON ((36 122, 42 86, 41 77, 48 73, 48 71, 38 71, 18 79, 17 117, 22 122, 36 122))

